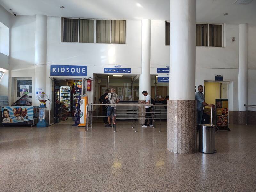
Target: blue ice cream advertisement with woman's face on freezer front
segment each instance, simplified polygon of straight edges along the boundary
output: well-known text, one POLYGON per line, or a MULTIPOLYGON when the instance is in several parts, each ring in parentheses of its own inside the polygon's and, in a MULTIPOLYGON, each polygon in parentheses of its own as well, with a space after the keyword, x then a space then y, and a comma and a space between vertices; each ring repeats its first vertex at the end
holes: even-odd
POLYGON ((34 106, 2 107, 2 124, 29 124, 33 121, 34 106))

